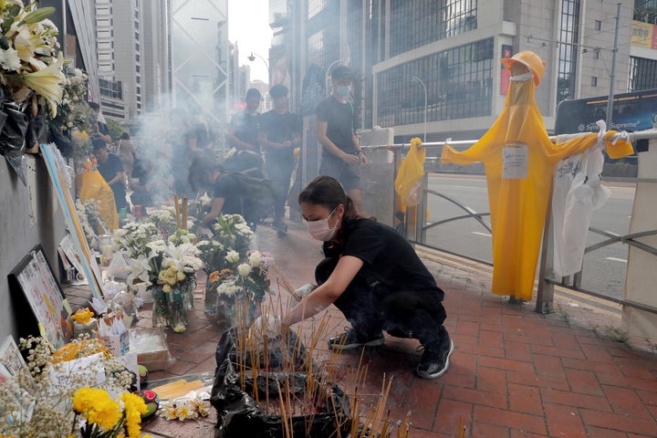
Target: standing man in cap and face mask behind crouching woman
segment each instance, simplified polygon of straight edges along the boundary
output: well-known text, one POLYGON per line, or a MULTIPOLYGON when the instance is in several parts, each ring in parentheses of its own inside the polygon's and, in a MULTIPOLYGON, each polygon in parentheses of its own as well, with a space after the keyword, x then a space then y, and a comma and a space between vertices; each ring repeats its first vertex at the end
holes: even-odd
POLYGON ((353 76, 347 66, 336 66, 331 71, 333 93, 317 106, 318 141, 322 145, 319 173, 332 176, 342 184, 360 213, 360 166, 367 158, 360 149, 354 125, 356 110, 351 97, 353 76))

